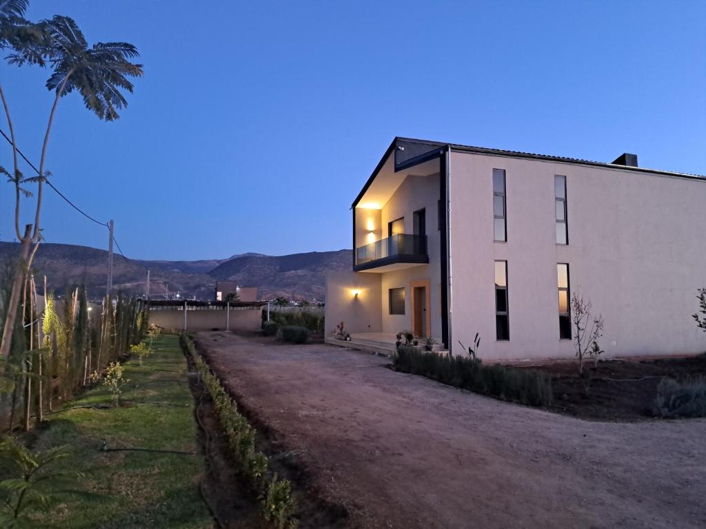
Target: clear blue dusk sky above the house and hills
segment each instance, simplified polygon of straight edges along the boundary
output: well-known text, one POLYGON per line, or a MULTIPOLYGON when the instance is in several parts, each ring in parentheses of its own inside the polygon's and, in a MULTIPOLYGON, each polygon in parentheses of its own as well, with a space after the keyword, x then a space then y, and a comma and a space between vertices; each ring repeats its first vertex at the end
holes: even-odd
MULTIPOLYGON (((62 99, 47 161, 128 257, 350 248, 349 206, 395 135, 706 174, 704 1, 32 0, 27 17, 54 14, 145 67, 114 123, 62 99)), ((35 161, 48 77, 0 66, 35 161)), ((106 248, 46 197, 46 241, 106 248)), ((11 208, 5 183, 3 241, 11 208)))

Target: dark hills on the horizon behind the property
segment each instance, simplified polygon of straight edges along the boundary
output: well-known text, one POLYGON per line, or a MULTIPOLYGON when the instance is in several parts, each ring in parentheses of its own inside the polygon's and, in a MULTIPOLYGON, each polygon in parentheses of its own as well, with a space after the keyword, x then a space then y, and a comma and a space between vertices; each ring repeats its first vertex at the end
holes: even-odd
MULTIPOLYGON (((0 242, 0 261, 7 261, 18 252, 18 243, 0 242)), ((88 246, 43 243, 32 269, 38 276, 37 284, 46 274, 49 288, 57 293, 85 284, 91 298, 100 298, 105 293, 107 255, 106 250, 88 246)), ((125 260, 116 254, 113 284, 125 293, 144 293, 149 269, 152 297, 179 291, 187 298, 211 299, 215 281, 229 279, 242 286, 258 287, 261 298, 323 299, 325 272, 347 269, 351 260, 351 250, 281 256, 244 253, 227 259, 197 261, 125 260)))

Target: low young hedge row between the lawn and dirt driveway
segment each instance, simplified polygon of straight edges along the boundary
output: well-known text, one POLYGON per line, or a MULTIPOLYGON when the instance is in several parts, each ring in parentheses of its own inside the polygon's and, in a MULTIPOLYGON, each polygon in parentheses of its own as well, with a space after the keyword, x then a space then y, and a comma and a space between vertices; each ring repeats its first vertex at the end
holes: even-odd
POLYGON ((261 499, 263 518, 277 529, 297 527, 289 480, 277 478, 277 474, 270 471, 268 456, 256 449, 257 431, 238 411, 237 403, 231 399, 218 377, 213 375, 201 355, 198 355, 196 345, 189 335, 182 333, 180 341, 184 352, 193 360, 203 386, 213 400, 221 428, 242 474, 261 499))

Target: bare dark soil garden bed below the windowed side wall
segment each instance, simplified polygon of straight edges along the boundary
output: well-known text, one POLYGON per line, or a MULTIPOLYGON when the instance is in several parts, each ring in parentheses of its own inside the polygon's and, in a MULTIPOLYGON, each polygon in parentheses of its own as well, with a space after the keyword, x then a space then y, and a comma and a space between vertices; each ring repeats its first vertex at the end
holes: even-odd
POLYGON ((557 362, 534 369, 551 375, 552 411, 590 420, 637 421, 654 418, 653 405, 662 378, 706 376, 706 354, 660 360, 608 360, 585 365, 557 362))

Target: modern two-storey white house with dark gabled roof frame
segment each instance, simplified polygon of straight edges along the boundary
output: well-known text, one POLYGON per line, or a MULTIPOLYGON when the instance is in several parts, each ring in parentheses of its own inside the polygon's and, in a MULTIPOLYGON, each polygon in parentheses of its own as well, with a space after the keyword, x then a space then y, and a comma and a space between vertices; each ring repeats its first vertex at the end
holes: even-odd
POLYGON ((411 329, 485 359, 573 358, 568 300, 605 356, 706 351, 706 178, 395 138, 353 205, 354 262, 330 272, 326 336, 391 348, 411 329), (379 343, 376 343, 379 342, 379 343))

